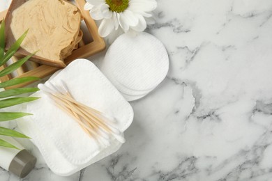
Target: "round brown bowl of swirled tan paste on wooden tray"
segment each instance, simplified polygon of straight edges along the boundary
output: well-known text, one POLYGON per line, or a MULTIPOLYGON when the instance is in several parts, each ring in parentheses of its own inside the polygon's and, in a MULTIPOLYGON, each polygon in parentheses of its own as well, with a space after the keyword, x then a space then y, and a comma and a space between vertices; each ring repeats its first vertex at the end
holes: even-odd
POLYGON ((29 29, 17 56, 38 51, 31 60, 63 68, 82 40, 81 19, 77 6, 65 0, 14 0, 6 20, 7 47, 29 29))

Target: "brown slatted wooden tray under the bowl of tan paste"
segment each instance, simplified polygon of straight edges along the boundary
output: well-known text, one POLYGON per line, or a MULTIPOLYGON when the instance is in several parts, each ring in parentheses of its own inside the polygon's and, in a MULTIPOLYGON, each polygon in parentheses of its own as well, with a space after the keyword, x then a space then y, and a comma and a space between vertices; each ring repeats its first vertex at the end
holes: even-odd
MULTIPOLYGON (((16 1, 16 0, 13 0, 16 1)), ((83 36, 89 36, 89 39, 92 39, 91 42, 85 43, 83 40, 79 44, 79 48, 75 49, 70 56, 68 56, 64 63, 68 65, 70 62, 74 61, 77 58, 87 58, 89 56, 92 56, 93 54, 96 54, 98 52, 103 51, 105 49, 105 42, 103 38, 101 38, 98 34, 98 27, 96 26, 96 22, 91 18, 89 11, 84 10, 84 5, 86 3, 85 0, 75 0, 75 3, 77 5, 77 8, 80 9, 82 13, 83 20, 86 24, 87 31, 83 31, 84 34, 83 36), (87 35, 89 34, 89 35, 87 35)), ((8 10, 5 10, 3 12, 0 12, 0 19, 3 19, 6 17, 8 13, 8 10)), ((1 20, 0 20, 1 22, 1 20)), ((17 61, 16 57, 12 58, 12 61, 17 61)), ((13 78, 18 78, 18 77, 39 77, 39 78, 44 78, 47 77, 60 68, 56 67, 51 67, 49 65, 39 65, 38 63, 31 63, 32 68, 31 70, 25 70, 24 68, 20 68, 17 70, 17 76, 14 76, 12 74, 8 74, 4 77, 0 77, 0 82, 3 81, 8 81, 13 78)), ((3 70, 6 65, 3 65, 0 67, 0 70, 3 70)), ((13 86, 9 88, 18 88, 18 87, 23 87, 27 86, 28 84, 31 84, 31 82, 27 84, 20 84, 18 86, 13 86)), ((7 88, 8 89, 8 88, 7 88)))

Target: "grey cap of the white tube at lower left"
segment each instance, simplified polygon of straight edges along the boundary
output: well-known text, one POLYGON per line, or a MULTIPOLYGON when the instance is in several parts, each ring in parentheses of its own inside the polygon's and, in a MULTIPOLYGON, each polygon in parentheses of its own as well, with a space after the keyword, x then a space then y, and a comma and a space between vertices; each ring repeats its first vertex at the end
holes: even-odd
POLYGON ((36 164, 36 157, 33 157, 27 150, 22 150, 13 158, 8 171, 14 173, 20 178, 24 178, 29 174, 36 164))

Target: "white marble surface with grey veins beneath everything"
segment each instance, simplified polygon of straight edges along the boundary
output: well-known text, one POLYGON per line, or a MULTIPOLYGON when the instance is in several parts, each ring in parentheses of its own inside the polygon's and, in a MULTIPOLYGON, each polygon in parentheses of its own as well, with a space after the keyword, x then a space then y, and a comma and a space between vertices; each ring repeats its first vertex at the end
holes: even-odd
MULTIPOLYGON (((155 14, 146 31, 170 70, 131 102, 122 148, 60 177, 22 141, 38 163, 21 180, 272 180, 272 1, 158 0, 155 14)), ((20 179, 0 169, 0 180, 20 179)))

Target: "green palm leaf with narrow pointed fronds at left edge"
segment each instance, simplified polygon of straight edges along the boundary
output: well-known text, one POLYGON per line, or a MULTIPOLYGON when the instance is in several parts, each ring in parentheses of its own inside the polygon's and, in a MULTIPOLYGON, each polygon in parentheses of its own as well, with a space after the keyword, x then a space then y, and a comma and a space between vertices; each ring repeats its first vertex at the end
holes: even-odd
MULTIPOLYGON (((22 41, 27 36, 27 32, 25 31, 23 35, 13 44, 11 45, 10 49, 5 54, 5 21, 3 19, 0 27, 0 66, 4 65, 20 48, 20 45, 22 44, 22 41)), ((35 53, 34 53, 35 54, 35 53)), ((4 68, 0 71, 0 77, 5 76, 6 74, 10 74, 11 72, 15 71, 17 68, 19 68, 22 64, 24 64, 33 54, 26 56, 20 61, 17 61, 8 67, 4 68)), ((23 77, 23 78, 16 78, 11 79, 9 81, 5 81, 0 83, 0 88, 6 88, 9 86, 15 86, 17 84, 22 84, 28 81, 36 81, 38 78, 36 77, 23 77)), ((13 88, 7 91, 0 92, 0 99, 6 98, 5 100, 0 100, 0 109, 5 107, 11 107, 17 104, 22 104, 24 102, 31 102, 33 100, 37 100, 39 97, 14 97, 14 98, 7 98, 10 96, 20 95, 23 93, 32 93, 38 91, 38 88, 13 88)), ((21 118, 23 116, 29 116, 30 113, 20 113, 20 112, 0 112, 0 121, 6 121, 6 120, 13 120, 17 118, 21 118)), ((5 127, 0 127, 0 135, 4 136, 11 136, 11 137, 19 137, 19 138, 27 138, 28 136, 16 132, 13 129, 8 129, 5 127)), ((0 139, 0 146, 7 147, 7 148, 17 148, 15 145, 8 143, 7 141, 0 139)))

